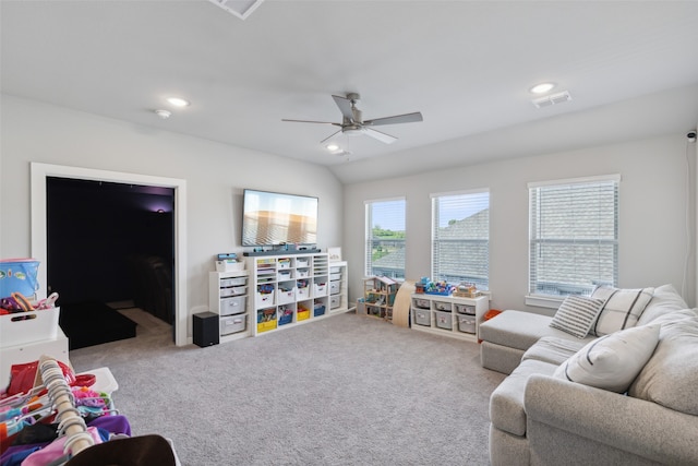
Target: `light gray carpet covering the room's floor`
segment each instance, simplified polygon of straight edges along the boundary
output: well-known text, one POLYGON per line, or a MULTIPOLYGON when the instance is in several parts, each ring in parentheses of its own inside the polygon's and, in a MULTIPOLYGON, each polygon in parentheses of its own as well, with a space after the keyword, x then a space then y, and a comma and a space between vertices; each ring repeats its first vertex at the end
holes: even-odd
POLYGON ((354 313, 256 338, 178 348, 140 310, 137 337, 71 351, 109 367, 133 434, 184 465, 486 465, 488 403, 504 375, 478 345, 354 313))

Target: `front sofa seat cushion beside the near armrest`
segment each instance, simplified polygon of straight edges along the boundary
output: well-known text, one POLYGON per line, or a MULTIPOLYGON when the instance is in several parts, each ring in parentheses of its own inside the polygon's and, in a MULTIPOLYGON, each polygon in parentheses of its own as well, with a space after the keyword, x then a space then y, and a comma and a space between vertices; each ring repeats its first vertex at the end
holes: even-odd
POLYGON ((524 393, 531 374, 552 375, 556 365, 528 359, 514 369, 490 396, 490 420, 495 428, 513 435, 526 434, 524 393))

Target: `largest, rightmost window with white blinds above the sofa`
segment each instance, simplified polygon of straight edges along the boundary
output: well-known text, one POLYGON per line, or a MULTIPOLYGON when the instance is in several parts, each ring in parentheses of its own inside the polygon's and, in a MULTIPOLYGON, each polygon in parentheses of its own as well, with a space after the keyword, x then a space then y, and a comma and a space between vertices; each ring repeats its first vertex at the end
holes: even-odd
POLYGON ((529 183, 531 295, 589 295, 618 275, 619 176, 529 183))

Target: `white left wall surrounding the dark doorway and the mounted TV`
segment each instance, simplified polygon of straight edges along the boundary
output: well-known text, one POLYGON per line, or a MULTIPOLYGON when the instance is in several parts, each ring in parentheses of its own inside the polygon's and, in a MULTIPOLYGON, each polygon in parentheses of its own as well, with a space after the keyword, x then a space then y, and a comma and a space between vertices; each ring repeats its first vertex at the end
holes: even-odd
POLYGON ((185 180, 189 310, 208 304, 214 255, 242 252, 243 188, 318 196, 318 246, 341 243, 342 188, 324 167, 8 95, 0 124, 0 258, 32 254, 32 162, 185 180))

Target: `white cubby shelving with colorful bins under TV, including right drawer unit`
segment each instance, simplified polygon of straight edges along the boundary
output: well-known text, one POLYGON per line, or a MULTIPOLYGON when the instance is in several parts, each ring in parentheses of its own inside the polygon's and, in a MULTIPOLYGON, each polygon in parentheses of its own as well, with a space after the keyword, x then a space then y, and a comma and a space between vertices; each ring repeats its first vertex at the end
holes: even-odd
POLYGON ((346 262, 330 265, 326 253, 252 255, 245 262, 249 287, 255 290, 255 299, 248 300, 248 315, 256 319, 250 321, 251 336, 349 310, 342 278, 347 276, 346 262), (336 283, 330 282, 330 270, 336 283))

